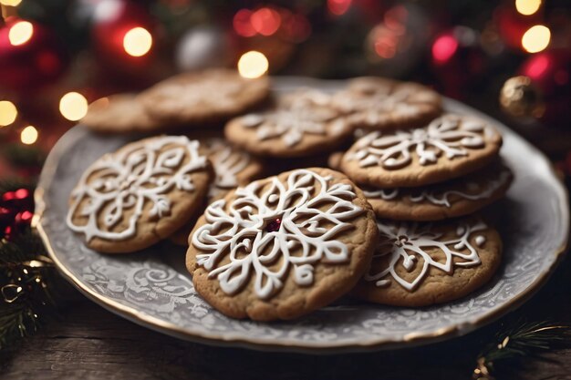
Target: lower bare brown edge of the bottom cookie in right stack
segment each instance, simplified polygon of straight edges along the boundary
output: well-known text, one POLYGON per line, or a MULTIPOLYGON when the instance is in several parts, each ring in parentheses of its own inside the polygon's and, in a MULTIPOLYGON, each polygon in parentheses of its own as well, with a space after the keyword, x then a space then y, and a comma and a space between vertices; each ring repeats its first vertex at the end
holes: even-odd
MULTIPOLYGON (((472 237, 472 239, 475 239, 475 237, 472 237)), ((480 256, 480 260, 482 261, 481 265, 473 268, 457 267, 454 269, 452 276, 447 274, 439 276, 439 278, 442 277, 446 279, 448 277, 452 279, 450 280, 451 282, 454 281, 450 284, 450 287, 444 291, 437 292, 426 290, 427 282, 431 288, 433 286, 437 286, 439 283, 439 281, 431 282, 431 274, 429 274, 427 279, 424 280, 422 284, 420 284, 419 289, 413 293, 402 290, 399 292, 399 295, 388 297, 385 295, 386 293, 383 294, 383 288, 377 288, 374 283, 366 282, 365 280, 361 279, 361 281, 358 282, 357 286, 351 291, 351 296, 363 301, 367 301, 369 303, 379 303, 400 307, 424 307, 438 303, 449 303, 461 299, 470 293, 477 291, 478 289, 482 288, 483 285, 490 282, 502 264, 504 244, 499 232, 491 226, 487 227, 486 241, 488 244, 493 244, 493 252, 490 252, 490 254, 486 255, 485 258, 480 256), (482 271, 482 265, 486 265, 487 270, 482 271), (479 275, 474 276, 473 271, 478 269, 481 270, 479 275), (460 277, 462 277, 464 280, 460 285, 457 283, 457 279, 459 277, 456 276, 457 273, 460 273, 460 277), (419 292, 420 290, 421 292, 419 292)), ((440 270, 431 268, 431 272, 440 272, 440 270)), ((396 284, 395 286, 400 285, 396 284)))

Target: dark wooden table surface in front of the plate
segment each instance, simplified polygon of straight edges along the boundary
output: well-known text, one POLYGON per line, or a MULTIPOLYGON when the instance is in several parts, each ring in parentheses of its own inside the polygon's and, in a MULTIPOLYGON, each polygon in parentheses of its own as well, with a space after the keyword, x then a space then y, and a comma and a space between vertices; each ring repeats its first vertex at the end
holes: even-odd
MULTIPOLYGON (((2 379, 470 379, 475 358, 503 324, 571 324, 571 262, 523 307, 440 344, 368 354, 265 353, 192 344, 109 313, 74 291, 60 320, 0 358, 2 379)), ((507 365, 504 379, 571 379, 571 350, 507 365), (514 372, 514 368, 519 371, 514 372)))

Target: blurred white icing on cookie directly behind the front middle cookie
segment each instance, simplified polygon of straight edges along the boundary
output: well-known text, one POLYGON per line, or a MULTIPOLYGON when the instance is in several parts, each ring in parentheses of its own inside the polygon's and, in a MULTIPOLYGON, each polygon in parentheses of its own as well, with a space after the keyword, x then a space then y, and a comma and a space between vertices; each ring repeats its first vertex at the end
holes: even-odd
POLYGON ((340 134, 345 121, 337 118, 333 108, 327 108, 329 96, 317 91, 303 93, 285 106, 275 110, 249 114, 242 118, 245 128, 257 128, 259 140, 281 138, 287 147, 299 143, 304 135, 340 134), (336 119, 337 118, 337 119, 336 119))

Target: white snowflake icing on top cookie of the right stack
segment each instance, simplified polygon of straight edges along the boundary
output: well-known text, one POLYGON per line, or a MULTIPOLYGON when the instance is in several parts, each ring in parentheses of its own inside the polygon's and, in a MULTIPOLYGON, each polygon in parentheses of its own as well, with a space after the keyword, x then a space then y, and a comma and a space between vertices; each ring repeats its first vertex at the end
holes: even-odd
POLYGON ((379 131, 371 132, 357 141, 357 150, 348 159, 357 159, 361 168, 378 165, 400 169, 410 165, 412 154, 416 154, 420 165, 430 165, 438 161, 441 153, 456 159, 468 156, 468 149, 482 149, 485 132, 485 125, 477 119, 447 115, 424 128, 398 130, 385 136, 379 131))

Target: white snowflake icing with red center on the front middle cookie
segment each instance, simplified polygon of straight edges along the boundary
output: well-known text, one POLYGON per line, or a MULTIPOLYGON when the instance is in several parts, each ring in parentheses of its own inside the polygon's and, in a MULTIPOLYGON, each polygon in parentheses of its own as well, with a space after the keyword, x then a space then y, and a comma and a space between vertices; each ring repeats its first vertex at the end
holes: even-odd
POLYGON ((225 200, 213 202, 204 212, 206 224, 192 236, 202 252, 197 265, 228 294, 254 272, 254 291, 267 299, 283 287, 290 267, 295 282, 308 286, 317 262, 347 262, 347 246, 334 238, 353 228, 350 221, 363 210, 353 204, 357 196, 350 185, 331 180, 297 169, 285 183, 274 177, 267 185, 238 188, 228 211, 225 200))

